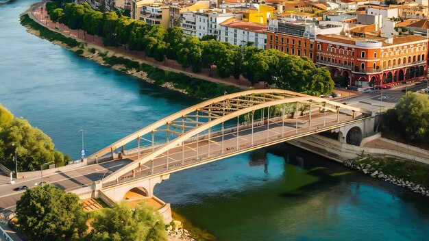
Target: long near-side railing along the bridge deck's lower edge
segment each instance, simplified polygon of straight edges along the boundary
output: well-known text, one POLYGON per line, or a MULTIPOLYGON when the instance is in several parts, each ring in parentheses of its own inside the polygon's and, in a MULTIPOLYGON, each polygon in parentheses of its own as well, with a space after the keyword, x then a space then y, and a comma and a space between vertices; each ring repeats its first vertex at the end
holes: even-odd
POLYGON ((367 118, 367 117, 368 116, 360 115, 360 116, 356 116, 355 118, 342 118, 340 123, 338 121, 336 121, 336 120, 334 120, 334 121, 328 121, 328 122, 323 123, 321 125, 315 125, 315 126, 312 126, 310 128, 308 128, 308 127, 306 127, 306 128, 305 127, 304 128, 297 128, 297 129, 286 131, 286 132, 284 132, 282 134, 271 135, 271 136, 268 136, 267 138, 259 138, 257 140, 254 140, 253 143, 252 142, 245 142, 244 144, 240 144, 238 146, 238 149, 236 149, 234 147, 231 147, 230 149, 225 149, 225 150, 221 150, 221 151, 211 152, 210 155, 206 155, 204 157, 198 157, 198 158, 197 157, 189 157, 189 158, 186 158, 185 160, 181 160, 178 163, 169 164, 169 166, 154 167, 154 168, 151 168, 150 170, 143 170, 143 171, 134 173, 134 175, 130 174, 130 175, 122 176, 122 177, 119 177, 119 179, 103 183, 103 188, 106 188, 108 186, 114 186, 116 184, 127 182, 127 181, 132 181, 134 179, 139 179, 139 178, 142 178, 142 177, 147 177, 149 175, 154 175, 154 174, 157 174, 157 173, 162 173, 162 172, 165 172, 165 171, 168 171, 168 170, 173 170, 173 169, 176 169, 176 168, 180 168, 182 166, 188 166, 188 165, 191 165, 191 164, 195 164, 197 162, 202 162, 204 160, 211 159, 213 157, 219 157, 221 155, 228 155, 230 153, 234 153, 236 151, 241 151, 243 149, 249 149, 251 147, 256 147, 256 146, 259 146, 261 144, 265 144, 265 143, 269 143, 269 142, 274 142, 276 140, 280 140, 280 139, 284 139, 284 138, 289 138, 289 137, 292 137, 292 136, 297 136, 299 134, 311 133, 312 131, 317 132, 319 130, 326 131, 326 129, 328 127, 332 127, 332 126, 335 126, 335 125, 341 125, 341 124, 344 124, 344 123, 349 123, 350 121, 358 121, 360 119, 367 118))

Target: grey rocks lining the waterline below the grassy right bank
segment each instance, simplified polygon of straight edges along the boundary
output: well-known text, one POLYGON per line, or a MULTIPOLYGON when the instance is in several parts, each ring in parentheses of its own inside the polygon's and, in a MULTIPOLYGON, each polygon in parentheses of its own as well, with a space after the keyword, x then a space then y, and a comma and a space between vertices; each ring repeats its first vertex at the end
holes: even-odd
MULTIPOLYGON (((359 170, 360 172, 370 175, 374 178, 379 178, 384 181, 389 181, 390 183, 395 184, 396 186, 401 186, 407 188, 413 192, 429 196, 429 190, 426 189, 421 183, 415 183, 413 181, 408 181, 404 178, 395 177, 394 175, 383 172, 380 168, 380 160, 367 160, 369 157, 365 157, 360 160, 345 160, 343 164, 350 168, 359 170), (367 162, 365 162, 367 160, 367 162), (372 163, 372 164, 371 164, 372 163)), ((402 162, 397 160, 396 162, 402 162)), ((400 170, 400 169, 397 169, 400 170)))

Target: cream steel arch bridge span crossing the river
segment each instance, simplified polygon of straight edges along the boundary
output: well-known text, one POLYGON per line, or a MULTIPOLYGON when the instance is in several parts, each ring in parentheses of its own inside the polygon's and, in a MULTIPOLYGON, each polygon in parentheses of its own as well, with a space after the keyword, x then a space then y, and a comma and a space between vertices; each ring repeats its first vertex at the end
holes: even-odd
MULTIPOLYGON (((130 164, 101 179, 96 190, 131 189, 138 186, 131 183, 156 177, 158 181, 145 187, 151 196, 154 185, 175 171, 322 131, 341 129, 346 134, 346 126, 352 129, 373 116, 368 110, 287 90, 247 90, 162 118, 94 153, 88 163, 99 157, 129 158, 130 164), (135 148, 125 150, 126 144, 135 148)), ((362 134, 353 136, 350 140, 360 142, 356 136, 362 134)))

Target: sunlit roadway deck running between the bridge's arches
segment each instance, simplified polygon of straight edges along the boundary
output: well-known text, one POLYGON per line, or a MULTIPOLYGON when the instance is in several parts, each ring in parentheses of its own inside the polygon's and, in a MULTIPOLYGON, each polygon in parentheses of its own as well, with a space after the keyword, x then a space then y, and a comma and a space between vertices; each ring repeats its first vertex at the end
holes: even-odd
MULTIPOLYGON (((316 108, 313 108, 316 109, 316 108)), ((340 114, 339 123, 343 123, 345 121, 350 121, 352 116, 346 114, 340 114)), ((243 147, 248 147, 249 145, 263 144, 268 142, 269 140, 273 140, 279 138, 280 136, 293 136, 295 134, 302 134, 309 131, 309 118, 310 116, 307 114, 306 116, 299 116, 298 119, 290 118, 286 119, 284 125, 282 121, 276 121, 267 123, 265 120, 265 125, 258 125, 254 127, 254 134, 252 137, 252 125, 247 128, 240 129, 238 134, 236 129, 233 129, 232 132, 225 133, 221 135, 221 131, 217 131, 217 134, 220 133, 220 136, 214 136, 210 138, 210 142, 207 139, 200 140, 199 142, 188 142, 185 143, 184 148, 182 145, 178 147, 174 147, 169 149, 169 151, 162 153, 158 157, 154 158, 154 162, 145 162, 143 165, 134 169, 134 175, 143 175, 147 176, 151 173, 167 173, 167 169, 174 168, 174 166, 182 167, 186 166, 195 166, 195 160, 198 158, 208 157, 208 155, 221 155, 222 153, 234 153, 237 149, 243 149, 243 147), (298 125, 296 125, 298 123, 298 125), (269 126, 269 129, 267 127, 269 126), (238 138, 237 138, 238 136, 238 138), (223 140, 223 144, 222 144, 223 140), (210 144, 209 144, 210 143, 210 144), (210 151, 210 153, 209 153, 210 151)), ((275 119, 275 118, 273 118, 275 119)), ((257 123, 257 122, 256 122, 257 123)), ((317 111, 312 111, 311 118, 311 130, 317 131, 317 129, 324 127, 325 125, 333 125, 337 124, 337 114, 332 112, 319 112, 319 108, 317 111)), ((231 127, 234 127, 232 125, 231 127)), ((228 128, 225 128, 228 129, 228 128)), ((212 134, 213 135, 213 134, 212 134)), ((344 134, 345 135, 345 134, 344 134)), ((149 153, 144 153, 145 155, 149 155, 149 153)), ((140 155, 140 159, 143 155, 140 155)), ((136 156, 128 157, 132 160, 137 160, 136 156)), ((206 162, 199 162, 199 164, 204 164, 206 162)), ((132 171, 126 173, 119 177, 119 181, 125 179, 130 179, 133 177, 132 171)), ((108 186, 108 185, 106 185, 108 186)))

